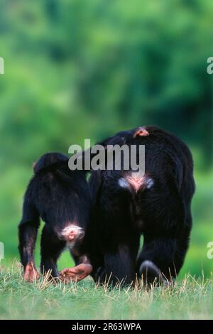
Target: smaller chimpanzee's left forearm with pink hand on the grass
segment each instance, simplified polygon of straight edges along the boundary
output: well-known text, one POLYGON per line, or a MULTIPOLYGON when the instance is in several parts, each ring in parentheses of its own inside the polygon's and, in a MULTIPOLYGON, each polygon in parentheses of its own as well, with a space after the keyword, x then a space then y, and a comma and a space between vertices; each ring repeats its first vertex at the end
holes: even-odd
POLYGON ((23 203, 22 220, 18 225, 18 249, 21 256, 21 264, 23 264, 24 268, 24 279, 32 282, 39 277, 34 264, 34 249, 40 220, 38 211, 29 199, 28 193, 29 190, 23 203))

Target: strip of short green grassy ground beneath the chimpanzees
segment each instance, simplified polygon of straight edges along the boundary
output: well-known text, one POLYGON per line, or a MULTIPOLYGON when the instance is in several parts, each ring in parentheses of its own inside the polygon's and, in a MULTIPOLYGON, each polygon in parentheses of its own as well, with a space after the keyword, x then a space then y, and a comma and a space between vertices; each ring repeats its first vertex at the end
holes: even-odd
POLYGON ((213 319, 213 280, 187 275, 173 287, 107 289, 23 282, 14 263, 0 271, 0 319, 213 319))

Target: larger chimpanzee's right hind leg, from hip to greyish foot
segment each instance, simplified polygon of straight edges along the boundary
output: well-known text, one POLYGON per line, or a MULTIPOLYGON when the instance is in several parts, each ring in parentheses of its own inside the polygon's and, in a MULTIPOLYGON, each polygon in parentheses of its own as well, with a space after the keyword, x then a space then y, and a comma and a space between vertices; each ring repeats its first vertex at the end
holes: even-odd
POLYGON ((189 244, 192 193, 185 191, 184 196, 181 195, 171 181, 168 182, 168 190, 166 196, 155 190, 155 195, 152 195, 158 198, 155 208, 146 207, 148 227, 143 235, 143 249, 138 255, 136 269, 147 284, 175 279, 189 244))

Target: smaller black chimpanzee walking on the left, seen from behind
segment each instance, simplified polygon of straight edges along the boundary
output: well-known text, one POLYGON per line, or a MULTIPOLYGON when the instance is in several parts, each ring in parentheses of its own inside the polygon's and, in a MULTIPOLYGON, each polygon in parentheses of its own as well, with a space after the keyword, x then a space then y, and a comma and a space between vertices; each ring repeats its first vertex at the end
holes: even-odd
POLYGON ((24 279, 33 281, 39 277, 33 253, 40 218, 45 222, 40 242, 40 271, 50 271, 53 278, 58 277, 57 260, 67 246, 77 265, 70 269, 70 277, 83 279, 92 271, 81 252, 91 207, 85 173, 70 171, 67 156, 60 153, 43 155, 35 163, 34 173, 24 196, 18 226, 24 279))

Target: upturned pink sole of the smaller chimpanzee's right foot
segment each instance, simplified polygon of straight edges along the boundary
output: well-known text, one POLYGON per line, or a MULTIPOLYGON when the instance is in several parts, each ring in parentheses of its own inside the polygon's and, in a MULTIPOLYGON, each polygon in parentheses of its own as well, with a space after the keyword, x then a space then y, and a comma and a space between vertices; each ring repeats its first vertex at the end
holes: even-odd
POLYGON ((68 283, 70 281, 81 281, 85 279, 85 277, 89 276, 92 273, 91 264, 79 264, 78 266, 74 266, 73 268, 66 268, 60 271, 60 279, 64 283, 68 283))

